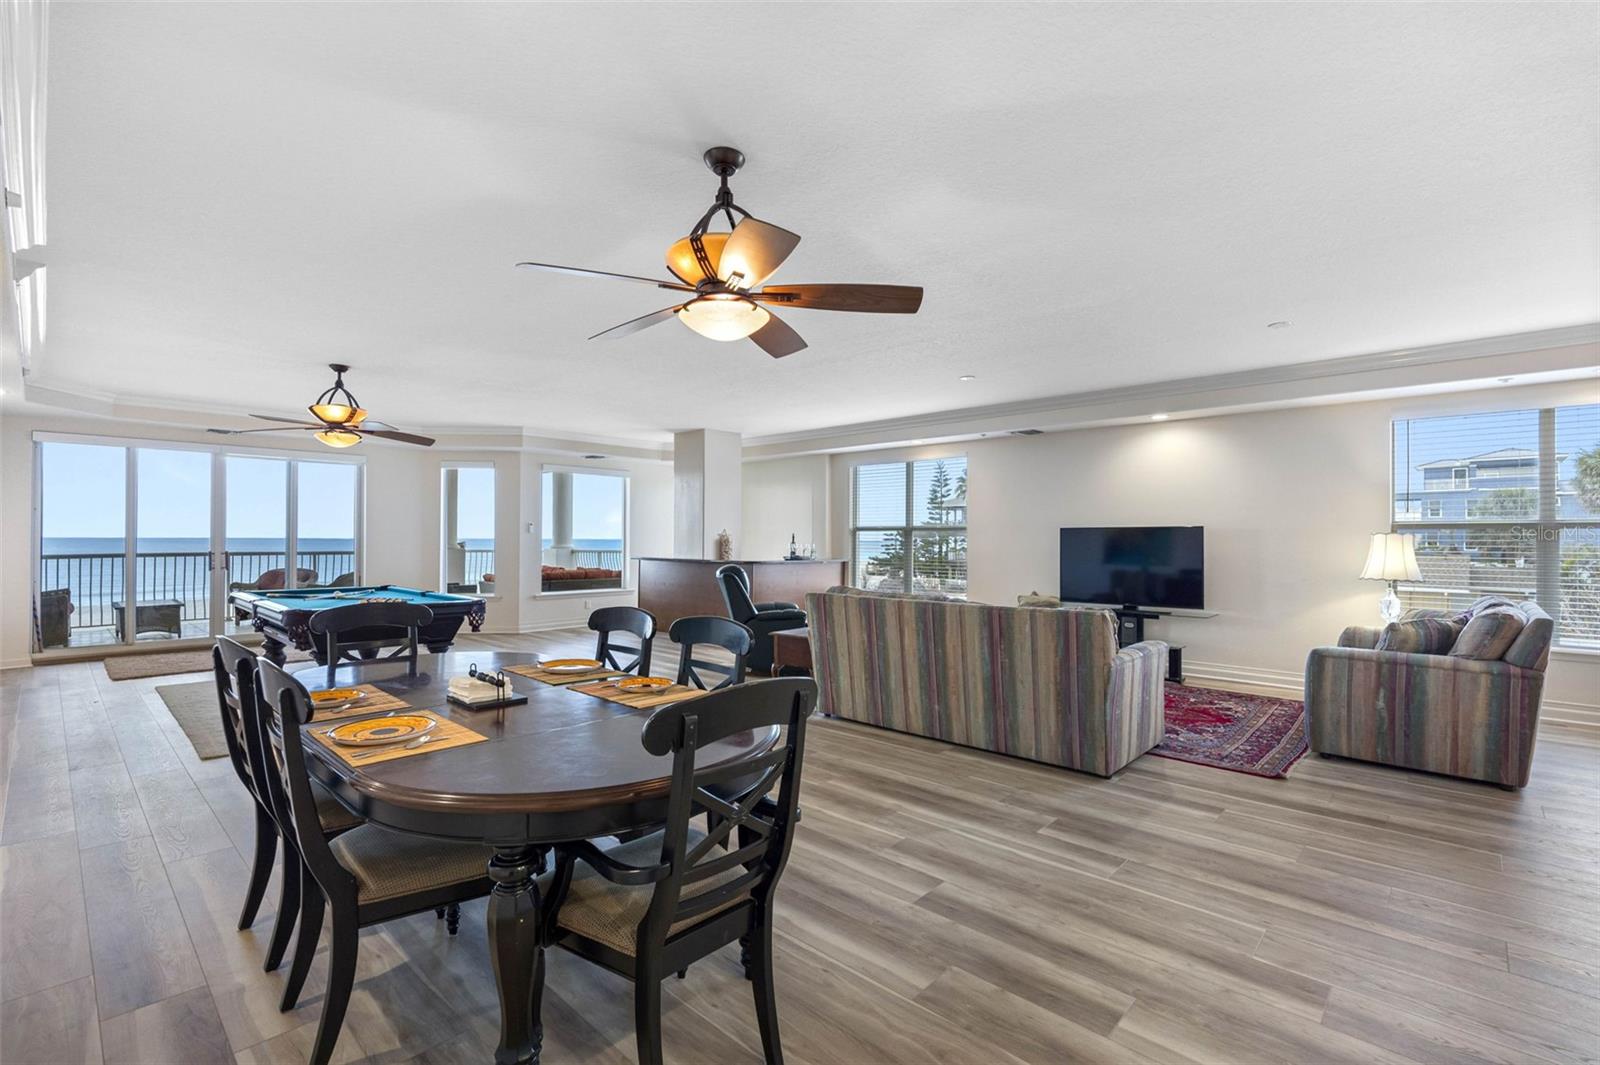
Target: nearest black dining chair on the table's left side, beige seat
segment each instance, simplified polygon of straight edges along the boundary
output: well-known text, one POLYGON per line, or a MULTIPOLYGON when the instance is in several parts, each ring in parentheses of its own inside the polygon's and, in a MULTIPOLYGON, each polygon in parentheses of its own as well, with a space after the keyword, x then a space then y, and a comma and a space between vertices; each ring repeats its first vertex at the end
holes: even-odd
MULTIPOLYGON (((322 833, 315 793, 306 768, 301 724, 310 720, 310 699, 299 681, 266 659, 256 664, 258 699, 272 760, 283 785, 294 841, 306 876, 301 883, 299 943, 283 988, 280 1009, 299 1001, 322 935, 323 908, 333 913, 328 990, 312 1044, 312 1065, 326 1065, 339 1041, 344 1011, 355 985, 360 929, 394 918, 438 911, 440 907, 490 894, 491 848, 446 843, 363 824, 333 840, 322 833)), ((426 758, 426 755, 422 755, 426 758)))

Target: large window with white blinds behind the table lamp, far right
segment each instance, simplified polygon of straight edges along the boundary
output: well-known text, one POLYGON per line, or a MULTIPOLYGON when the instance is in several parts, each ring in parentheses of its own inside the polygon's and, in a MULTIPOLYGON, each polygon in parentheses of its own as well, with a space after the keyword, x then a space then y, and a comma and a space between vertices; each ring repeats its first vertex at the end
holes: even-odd
POLYGON ((1600 649, 1600 403, 1394 422, 1394 529, 1416 534, 1422 569, 1406 606, 1536 600, 1557 646, 1600 649), (1432 481, 1464 505, 1418 518, 1408 501, 1432 481))

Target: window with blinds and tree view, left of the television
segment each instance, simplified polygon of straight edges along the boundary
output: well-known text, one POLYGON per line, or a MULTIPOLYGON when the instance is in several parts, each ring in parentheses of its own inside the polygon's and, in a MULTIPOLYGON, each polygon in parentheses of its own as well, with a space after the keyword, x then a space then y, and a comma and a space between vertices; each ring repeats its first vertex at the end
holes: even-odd
POLYGON ((858 588, 966 595, 966 456, 851 470, 850 572, 858 588))

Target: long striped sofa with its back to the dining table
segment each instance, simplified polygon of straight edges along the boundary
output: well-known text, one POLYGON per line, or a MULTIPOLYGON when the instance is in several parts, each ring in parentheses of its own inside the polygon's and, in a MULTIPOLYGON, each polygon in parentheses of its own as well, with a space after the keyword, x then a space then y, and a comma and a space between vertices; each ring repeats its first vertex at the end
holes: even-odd
POLYGON ((1166 644, 1102 609, 806 595, 824 713, 1109 777, 1162 742, 1166 644))

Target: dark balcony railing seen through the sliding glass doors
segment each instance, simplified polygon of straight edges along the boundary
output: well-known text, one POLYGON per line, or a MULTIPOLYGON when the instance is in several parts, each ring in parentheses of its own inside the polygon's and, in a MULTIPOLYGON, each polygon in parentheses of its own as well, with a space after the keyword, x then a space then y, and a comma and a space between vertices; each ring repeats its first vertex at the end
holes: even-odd
MULTIPOLYGON (((226 552, 227 584, 253 585, 270 569, 285 569, 283 552, 226 552)), ((70 628, 115 627, 117 612, 112 603, 126 598, 123 568, 126 558, 120 553, 102 555, 42 555, 38 560, 38 590, 66 588, 72 604, 70 628)), ((211 553, 210 552, 138 552, 133 556, 134 598, 176 600, 181 603, 182 620, 205 620, 211 616, 211 553)), ((355 552, 298 552, 298 587, 330 585, 339 577, 354 574, 355 552), (307 579, 307 574, 314 577, 307 579)), ((282 587, 282 585, 280 585, 282 587)))

